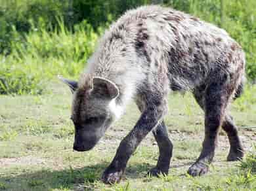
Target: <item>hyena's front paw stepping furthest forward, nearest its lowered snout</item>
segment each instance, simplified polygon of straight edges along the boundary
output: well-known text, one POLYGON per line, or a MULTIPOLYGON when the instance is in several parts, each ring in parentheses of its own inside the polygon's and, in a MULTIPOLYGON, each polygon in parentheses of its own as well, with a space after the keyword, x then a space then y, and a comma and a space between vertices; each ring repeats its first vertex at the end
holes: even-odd
POLYGON ((123 170, 118 170, 114 167, 108 167, 102 174, 101 179, 105 184, 115 184, 120 182, 123 172, 123 170))

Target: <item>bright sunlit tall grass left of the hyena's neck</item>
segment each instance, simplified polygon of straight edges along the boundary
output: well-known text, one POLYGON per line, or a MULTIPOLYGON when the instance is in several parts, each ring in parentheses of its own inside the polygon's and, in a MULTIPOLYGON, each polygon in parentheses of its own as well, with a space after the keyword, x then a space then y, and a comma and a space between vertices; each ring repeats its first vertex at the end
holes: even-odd
MULTIPOLYGON (((97 33, 87 22, 68 31, 58 19, 58 30, 33 27, 24 41, 11 41, 11 54, 0 56, 0 94, 41 94, 47 80, 81 73, 95 49, 97 33)), ((15 28, 12 33, 20 38, 15 28)))

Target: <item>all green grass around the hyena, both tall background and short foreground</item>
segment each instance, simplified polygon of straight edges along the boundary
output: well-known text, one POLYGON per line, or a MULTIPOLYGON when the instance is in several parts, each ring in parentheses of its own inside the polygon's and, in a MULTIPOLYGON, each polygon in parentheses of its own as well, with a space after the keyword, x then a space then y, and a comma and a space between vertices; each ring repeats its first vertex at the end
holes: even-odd
MULTIPOLYGON (((253 80, 256 69, 255 1, 246 1, 246 6, 238 1, 225 1, 224 8, 228 11, 225 11, 224 23, 219 16, 219 0, 169 2, 179 10, 184 9, 227 29, 244 47, 247 76, 253 80)), ((2 10, 5 3, 0 4, 0 14, 5 13, 2 10)), ((256 188, 255 85, 247 85, 243 96, 231 107, 248 153, 242 162, 225 161, 228 139, 221 131, 211 172, 196 178, 186 175, 202 148, 203 112, 190 94, 175 94, 169 97, 169 114, 165 117, 174 144, 169 175, 146 176, 158 160, 158 146, 150 134, 133 154, 120 184, 110 186, 100 182, 102 171, 110 164, 121 139, 135 125, 139 111, 132 103, 93 150, 72 152, 71 95, 68 88, 54 78, 57 74, 77 78, 95 50, 102 28, 95 29, 86 21, 75 22, 74 26, 70 23, 71 28, 67 27, 63 12, 50 11, 53 4, 60 11, 66 6, 52 0, 35 0, 31 4, 27 0, 15 1, 4 6, 7 14, 0 18, 3 26, 0 30, 0 46, 3 47, 0 50, 0 190, 256 188), (17 2, 20 3, 18 7, 13 7, 17 2), (43 8, 46 11, 42 11, 43 8)))

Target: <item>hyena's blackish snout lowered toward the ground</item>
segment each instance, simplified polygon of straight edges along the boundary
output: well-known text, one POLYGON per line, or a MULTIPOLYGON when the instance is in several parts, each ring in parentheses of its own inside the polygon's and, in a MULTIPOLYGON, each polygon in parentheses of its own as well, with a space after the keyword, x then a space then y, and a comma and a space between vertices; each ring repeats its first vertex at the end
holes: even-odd
POLYGON ((91 135, 89 131, 75 131, 73 149, 79 152, 91 150, 98 143, 100 137, 91 135))

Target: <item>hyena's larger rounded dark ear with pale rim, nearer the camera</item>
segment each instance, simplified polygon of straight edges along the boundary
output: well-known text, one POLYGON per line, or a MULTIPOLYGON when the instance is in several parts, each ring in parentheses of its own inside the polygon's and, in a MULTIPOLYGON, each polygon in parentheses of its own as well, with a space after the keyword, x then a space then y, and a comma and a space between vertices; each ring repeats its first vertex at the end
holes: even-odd
POLYGON ((110 99, 114 99, 119 96, 119 89, 117 88, 114 82, 101 78, 94 77, 93 78, 93 93, 98 94, 100 96, 106 96, 110 99))

